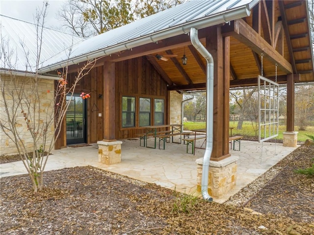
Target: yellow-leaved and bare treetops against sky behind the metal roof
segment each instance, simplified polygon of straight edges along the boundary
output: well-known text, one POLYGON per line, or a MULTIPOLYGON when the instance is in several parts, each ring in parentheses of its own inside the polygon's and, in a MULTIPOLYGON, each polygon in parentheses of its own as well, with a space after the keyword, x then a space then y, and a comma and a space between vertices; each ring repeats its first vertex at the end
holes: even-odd
POLYGON ((82 37, 101 34, 186 0, 69 0, 57 16, 66 29, 82 37))

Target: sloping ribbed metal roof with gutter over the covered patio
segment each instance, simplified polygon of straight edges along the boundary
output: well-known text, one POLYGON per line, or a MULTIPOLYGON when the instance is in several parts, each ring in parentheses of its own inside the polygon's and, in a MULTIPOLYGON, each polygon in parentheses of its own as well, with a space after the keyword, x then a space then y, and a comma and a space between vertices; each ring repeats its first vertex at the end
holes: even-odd
MULTIPOLYGON (((131 24, 115 28, 87 39, 75 45, 70 56, 65 53, 55 55, 45 61, 40 70, 42 72, 48 72, 63 67, 65 61, 72 61, 72 64, 75 64, 86 61, 87 59, 100 57, 100 55, 108 55, 108 53, 105 52, 106 49, 110 49, 107 50, 110 53, 122 51, 121 46, 124 46, 124 50, 131 49, 128 48, 128 42, 137 41, 138 43, 132 44, 133 46, 144 45, 148 43, 143 40, 144 37, 153 37, 156 34, 164 32, 164 38, 166 38, 167 36, 169 37, 169 35, 166 35, 166 32, 173 28, 184 28, 187 24, 208 20, 219 14, 240 7, 246 7, 249 11, 258 1, 259 0, 191 0, 131 24), (103 52, 103 54, 101 54, 101 52, 103 52)), ((228 20, 235 19, 226 19, 225 21, 228 20)), ((204 27, 206 26, 210 25, 204 25, 204 27)), ((186 29, 183 29, 183 31, 184 30, 187 30, 185 32, 187 33, 189 28, 187 27, 186 29)), ((184 33, 183 31, 176 33, 177 35, 180 35, 184 33)), ((160 39, 162 38, 159 37, 159 40, 160 39)))

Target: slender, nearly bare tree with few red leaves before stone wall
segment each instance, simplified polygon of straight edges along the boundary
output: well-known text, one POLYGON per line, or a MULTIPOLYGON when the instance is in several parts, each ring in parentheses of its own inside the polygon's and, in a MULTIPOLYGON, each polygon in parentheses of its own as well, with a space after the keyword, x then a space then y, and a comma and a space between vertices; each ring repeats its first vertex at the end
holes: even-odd
MULTIPOLYGON (((0 130, 16 146, 35 192, 43 188, 45 166, 70 104, 66 96, 72 98, 78 81, 91 70, 96 61, 87 61, 82 65, 72 84, 68 84, 67 68, 58 72, 59 78, 55 86, 54 80, 41 78, 37 71, 47 6, 48 3, 45 2, 43 9, 37 11, 35 17, 37 21, 35 73, 22 74, 14 70, 17 62, 14 51, 10 49, 9 41, 5 40, 2 34, 0 48, 0 59, 4 64, 2 71, 5 71, 0 77, 0 130), (47 90, 47 85, 54 91, 47 90)), ((28 71, 32 65, 28 58, 29 53, 25 51, 28 71)), ((81 96, 85 99, 89 94, 82 93, 81 96)))

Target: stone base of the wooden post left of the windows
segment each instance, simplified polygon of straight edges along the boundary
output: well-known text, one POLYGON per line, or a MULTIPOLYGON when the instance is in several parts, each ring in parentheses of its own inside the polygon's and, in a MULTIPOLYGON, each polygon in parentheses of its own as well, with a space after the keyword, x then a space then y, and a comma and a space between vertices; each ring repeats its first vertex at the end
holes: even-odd
POLYGON ((97 141, 98 161, 107 165, 121 162, 122 141, 97 141))

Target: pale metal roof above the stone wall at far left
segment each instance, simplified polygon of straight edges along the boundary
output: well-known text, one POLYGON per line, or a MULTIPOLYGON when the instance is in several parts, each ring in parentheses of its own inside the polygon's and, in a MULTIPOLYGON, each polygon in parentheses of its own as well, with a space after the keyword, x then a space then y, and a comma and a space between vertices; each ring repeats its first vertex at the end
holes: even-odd
MULTIPOLYGON (((13 69, 15 71, 34 73, 38 42, 36 35, 35 24, 0 14, 0 37, 2 41, 0 69, 13 69), (10 58, 11 65, 8 65, 7 61, 4 61, 3 55, 1 56, 2 50, 12 53, 10 58)), ((84 38, 44 27, 40 63, 59 52, 64 53, 65 49, 83 40, 84 38)))

